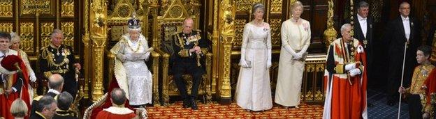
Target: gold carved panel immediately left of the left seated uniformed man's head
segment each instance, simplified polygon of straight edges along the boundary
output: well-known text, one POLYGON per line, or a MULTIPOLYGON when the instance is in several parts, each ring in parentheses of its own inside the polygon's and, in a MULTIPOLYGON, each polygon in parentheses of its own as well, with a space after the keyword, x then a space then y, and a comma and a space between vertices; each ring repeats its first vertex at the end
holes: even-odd
POLYGON ((41 23, 41 47, 46 47, 50 45, 52 34, 54 29, 54 23, 52 22, 43 22, 41 23))

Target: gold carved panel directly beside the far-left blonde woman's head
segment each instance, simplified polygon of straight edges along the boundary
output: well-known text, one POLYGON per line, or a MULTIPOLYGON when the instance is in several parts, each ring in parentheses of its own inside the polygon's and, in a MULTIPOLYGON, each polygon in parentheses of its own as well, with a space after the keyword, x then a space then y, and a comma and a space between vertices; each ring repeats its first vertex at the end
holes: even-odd
POLYGON ((34 23, 24 22, 20 23, 20 38, 21 49, 26 52, 34 51, 34 23))

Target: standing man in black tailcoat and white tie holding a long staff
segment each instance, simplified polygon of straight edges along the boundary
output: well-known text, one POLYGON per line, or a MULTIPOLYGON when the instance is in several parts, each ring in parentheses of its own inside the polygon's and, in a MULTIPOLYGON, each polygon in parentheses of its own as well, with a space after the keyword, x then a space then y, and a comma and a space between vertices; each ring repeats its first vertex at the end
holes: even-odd
POLYGON ((416 49, 421 45, 420 25, 417 19, 409 16, 410 4, 407 2, 400 3, 400 16, 393 19, 386 27, 384 40, 388 47, 388 80, 387 80, 387 104, 394 105, 398 102, 402 62, 406 46, 406 58, 404 65, 404 81, 402 86, 410 86, 413 69, 416 63, 416 49))

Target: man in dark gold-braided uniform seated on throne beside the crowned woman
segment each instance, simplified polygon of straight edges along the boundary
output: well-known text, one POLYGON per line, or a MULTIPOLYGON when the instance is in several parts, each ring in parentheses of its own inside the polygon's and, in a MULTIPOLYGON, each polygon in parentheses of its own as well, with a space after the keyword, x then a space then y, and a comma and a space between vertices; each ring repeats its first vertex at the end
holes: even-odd
POLYGON ((183 99, 183 107, 191 107, 196 110, 195 102, 198 95, 198 86, 201 76, 205 72, 201 65, 201 59, 208 51, 208 43, 201 38, 201 32, 192 30, 194 20, 187 17, 183 22, 183 31, 173 35, 174 54, 171 55, 173 63, 173 76, 175 84, 183 99), (182 79, 182 74, 191 74, 191 95, 187 93, 187 87, 182 79))

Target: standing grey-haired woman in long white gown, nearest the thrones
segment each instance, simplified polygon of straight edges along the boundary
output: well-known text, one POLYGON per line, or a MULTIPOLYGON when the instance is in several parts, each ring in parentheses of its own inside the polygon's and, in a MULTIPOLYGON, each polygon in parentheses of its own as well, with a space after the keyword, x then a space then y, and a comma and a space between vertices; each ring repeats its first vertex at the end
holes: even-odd
POLYGON ((254 20, 245 24, 242 35, 240 72, 235 101, 249 111, 263 111, 273 107, 269 68, 271 66, 270 25, 263 22, 265 6, 256 3, 254 20))

